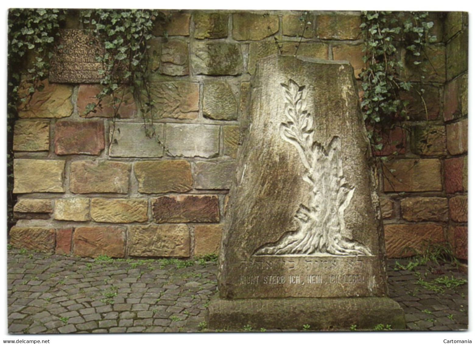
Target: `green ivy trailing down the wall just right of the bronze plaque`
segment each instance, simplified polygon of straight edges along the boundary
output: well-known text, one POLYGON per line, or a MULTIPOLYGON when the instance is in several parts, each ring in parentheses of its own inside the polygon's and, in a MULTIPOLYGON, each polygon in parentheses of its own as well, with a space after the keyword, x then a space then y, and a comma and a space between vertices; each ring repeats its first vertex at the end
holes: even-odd
POLYGON ((104 45, 104 54, 96 56, 102 64, 99 70, 102 90, 97 102, 86 106, 85 114, 102 107, 104 98, 111 97, 115 119, 126 93, 131 93, 142 114, 147 136, 154 135, 148 41, 152 38, 154 22, 164 19, 162 12, 152 9, 86 9, 81 11, 82 22, 104 45))

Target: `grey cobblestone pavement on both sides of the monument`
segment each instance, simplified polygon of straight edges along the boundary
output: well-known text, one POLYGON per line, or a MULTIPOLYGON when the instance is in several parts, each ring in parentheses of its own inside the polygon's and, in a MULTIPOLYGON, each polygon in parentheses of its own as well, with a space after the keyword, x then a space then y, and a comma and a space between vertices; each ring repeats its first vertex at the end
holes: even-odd
MULTIPOLYGON (((405 309, 409 330, 467 328, 467 285, 447 288, 465 273, 448 264, 413 271, 395 270, 395 264, 390 261, 390 296, 405 309)), ((9 250, 8 332, 206 331, 216 270, 204 260, 94 260, 9 250)))

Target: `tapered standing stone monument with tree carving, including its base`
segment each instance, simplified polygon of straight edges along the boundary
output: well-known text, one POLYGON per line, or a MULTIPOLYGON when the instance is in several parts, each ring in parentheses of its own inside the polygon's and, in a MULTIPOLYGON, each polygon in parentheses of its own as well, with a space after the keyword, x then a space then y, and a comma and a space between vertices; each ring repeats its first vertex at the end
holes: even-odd
POLYGON ((262 59, 242 128, 208 326, 405 328, 352 66, 262 59))

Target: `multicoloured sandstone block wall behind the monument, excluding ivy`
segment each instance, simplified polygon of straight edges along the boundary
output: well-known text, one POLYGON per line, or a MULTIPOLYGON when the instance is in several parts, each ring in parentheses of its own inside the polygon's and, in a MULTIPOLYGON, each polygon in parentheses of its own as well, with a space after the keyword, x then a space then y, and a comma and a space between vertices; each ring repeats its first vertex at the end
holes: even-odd
MULTIPOLYGON (((293 55, 300 42, 299 56, 348 60, 357 78, 363 67, 359 12, 302 16, 173 11, 151 41, 152 139, 131 96, 114 123, 110 106, 84 115, 98 85, 47 84, 35 93, 14 128, 10 243, 79 256, 216 253, 257 60, 279 49, 293 55)), ((448 240, 466 259, 467 18, 431 16, 438 40, 428 49, 428 116, 408 94, 409 131, 390 134, 404 145, 383 151, 401 153, 385 166, 394 176, 380 175, 387 251, 398 257, 430 238, 448 240)))

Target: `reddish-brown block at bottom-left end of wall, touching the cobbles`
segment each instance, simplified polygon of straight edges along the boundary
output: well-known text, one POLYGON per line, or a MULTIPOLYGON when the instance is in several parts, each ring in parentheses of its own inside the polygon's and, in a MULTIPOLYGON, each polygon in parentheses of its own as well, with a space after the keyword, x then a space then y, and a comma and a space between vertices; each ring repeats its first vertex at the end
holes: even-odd
POLYGON ((48 227, 18 227, 10 229, 10 244, 17 249, 54 253, 56 233, 48 227))

